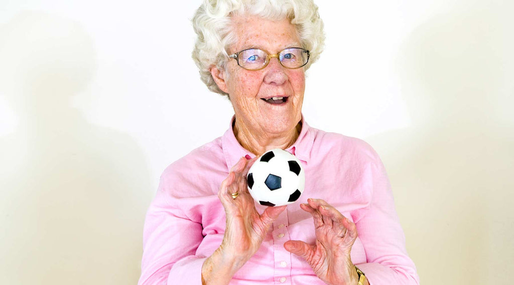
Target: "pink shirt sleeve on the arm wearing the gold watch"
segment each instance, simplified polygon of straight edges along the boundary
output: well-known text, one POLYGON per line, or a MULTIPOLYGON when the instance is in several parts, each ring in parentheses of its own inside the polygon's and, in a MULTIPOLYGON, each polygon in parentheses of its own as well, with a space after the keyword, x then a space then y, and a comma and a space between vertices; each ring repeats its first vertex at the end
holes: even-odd
POLYGON ((371 200, 356 221, 368 263, 356 264, 371 285, 419 285, 414 262, 407 255, 405 235, 394 207, 391 185, 382 162, 369 165, 371 200))

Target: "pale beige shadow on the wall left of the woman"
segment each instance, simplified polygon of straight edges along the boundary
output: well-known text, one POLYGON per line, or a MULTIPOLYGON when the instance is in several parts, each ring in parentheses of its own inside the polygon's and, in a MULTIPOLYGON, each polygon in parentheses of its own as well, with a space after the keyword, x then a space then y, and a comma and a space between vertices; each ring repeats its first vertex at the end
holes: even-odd
MULTIPOLYGON (((149 173, 128 135, 70 107, 96 70, 80 24, 26 11, 0 27, 0 283, 135 284, 149 173)), ((116 110, 113 110, 116 112, 116 110)))

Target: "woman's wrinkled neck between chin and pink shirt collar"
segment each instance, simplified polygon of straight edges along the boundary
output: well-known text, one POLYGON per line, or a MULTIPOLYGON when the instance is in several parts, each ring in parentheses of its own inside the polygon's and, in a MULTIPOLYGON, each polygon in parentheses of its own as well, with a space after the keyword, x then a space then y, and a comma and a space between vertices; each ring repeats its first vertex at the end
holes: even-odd
POLYGON ((292 146, 300 135, 302 130, 302 122, 300 121, 291 130, 281 134, 267 134, 263 132, 250 131, 242 124, 238 124, 237 120, 234 120, 232 126, 235 138, 237 141, 251 153, 259 156, 268 150, 272 149, 287 149, 292 146))

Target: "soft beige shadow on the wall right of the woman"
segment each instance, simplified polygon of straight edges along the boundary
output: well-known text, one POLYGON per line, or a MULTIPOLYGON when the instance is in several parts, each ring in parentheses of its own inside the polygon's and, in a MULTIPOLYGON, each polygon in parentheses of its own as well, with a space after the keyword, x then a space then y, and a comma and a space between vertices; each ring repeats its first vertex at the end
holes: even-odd
POLYGON ((367 139, 425 284, 514 279, 514 128, 498 115, 514 97, 509 5, 455 7, 417 27, 398 55, 412 125, 367 139))

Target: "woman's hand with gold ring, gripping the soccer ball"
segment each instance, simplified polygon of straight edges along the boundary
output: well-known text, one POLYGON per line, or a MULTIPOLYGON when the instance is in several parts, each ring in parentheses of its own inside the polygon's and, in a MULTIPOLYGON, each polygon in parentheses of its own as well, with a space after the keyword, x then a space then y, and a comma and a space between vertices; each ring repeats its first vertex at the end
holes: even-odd
POLYGON ((242 157, 219 188, 218 197, 226 214, 221 246, 204 262, 203 284, 228 284, 232 276, 261 246, 269 228, 286 206, 267 207, 260 215, 248 192, 246 175, 256 158, 242 157), (238 193, 232 198, 232 194, 238 193))

